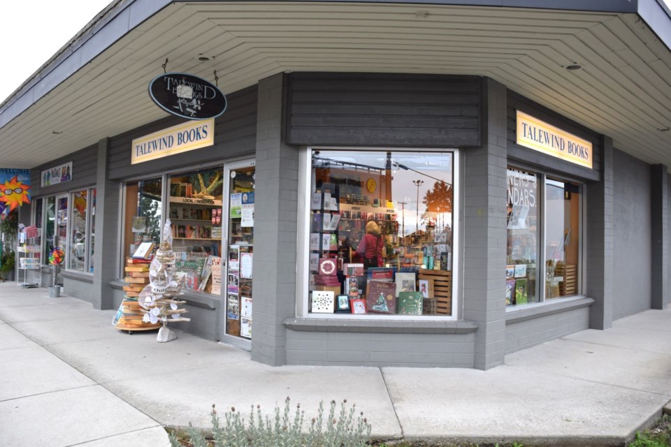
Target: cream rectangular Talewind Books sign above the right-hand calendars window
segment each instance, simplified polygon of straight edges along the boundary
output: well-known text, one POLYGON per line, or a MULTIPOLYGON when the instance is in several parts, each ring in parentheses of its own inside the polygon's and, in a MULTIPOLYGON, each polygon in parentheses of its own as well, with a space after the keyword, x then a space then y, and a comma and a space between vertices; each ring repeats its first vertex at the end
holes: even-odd
POLYGON ((517 144, 592 168, 592 143, 517 110, 517 144))

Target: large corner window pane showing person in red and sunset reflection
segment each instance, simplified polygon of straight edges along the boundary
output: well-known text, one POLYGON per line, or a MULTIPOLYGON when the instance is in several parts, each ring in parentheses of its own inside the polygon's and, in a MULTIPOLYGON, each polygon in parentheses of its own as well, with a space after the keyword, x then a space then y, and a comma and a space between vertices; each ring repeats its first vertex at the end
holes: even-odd
POLYGON ((312 152, 308 311, 452 315, 454 154, 312 152))

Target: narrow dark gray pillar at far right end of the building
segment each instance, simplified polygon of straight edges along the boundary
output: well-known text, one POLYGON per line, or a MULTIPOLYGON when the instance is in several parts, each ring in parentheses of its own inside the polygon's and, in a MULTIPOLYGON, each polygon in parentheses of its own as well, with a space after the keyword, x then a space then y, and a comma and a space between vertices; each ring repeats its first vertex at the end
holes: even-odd
POLYGON ((669 199, 668 168, 665 165, 651 166, 651 308, 664 309, 668 302, 669 262, 669 199))

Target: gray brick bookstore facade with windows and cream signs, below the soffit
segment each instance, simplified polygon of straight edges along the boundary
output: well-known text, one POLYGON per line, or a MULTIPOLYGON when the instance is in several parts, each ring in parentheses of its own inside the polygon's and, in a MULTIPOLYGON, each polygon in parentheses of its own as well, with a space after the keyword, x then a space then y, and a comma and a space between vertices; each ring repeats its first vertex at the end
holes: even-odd
MULTIPOLYGON (((557 111, 574 96, 484 72, 324 67, 255 78, 215 111, 220 87, 193 65, 138 80, 159 119, 31 167, 23 253, 43 267, 22 281, 124 309, 167 226, 190 318, 174 328, 269 365, 486 369, 668 305, 665 160, 557 111)), ((142 316, 110 331, 156 327, 142 316)))

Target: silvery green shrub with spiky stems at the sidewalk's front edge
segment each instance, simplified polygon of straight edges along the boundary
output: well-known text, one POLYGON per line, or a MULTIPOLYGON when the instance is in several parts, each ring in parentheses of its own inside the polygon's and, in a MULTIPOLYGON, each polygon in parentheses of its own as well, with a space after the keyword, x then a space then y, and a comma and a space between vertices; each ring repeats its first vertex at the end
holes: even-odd
MULTIPOLYGON (((249 420, 245 422, 240 411, 231 408, 219 418, 219 413, 212 405, 212 439, 217 447, 356 447, 363 446, 370 437, 370 424, 363 417, 363 412, 354 417, 354 405, 347 409, 347 400, 340 404, 336 415, 335 400, 331 401, 329 415, 324 419, 324 402, 319 402, 317 417, 310 420, 308 432, 301 432, 305 411, 301 404, 296 405, 293 418, 290 416, 290 400, 284 401, 284 410, 275 406, 273 417, 261 413, 257 406, 250 411, 249 420)), ((208 443, 199 430, 189 423, 187 429, 190 442, 194 447, 207 447, 208 443)), ((172 447, 180 447, 175 434, 170 434, 172 447)))

